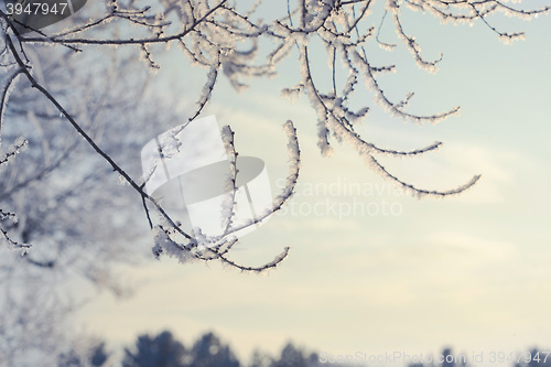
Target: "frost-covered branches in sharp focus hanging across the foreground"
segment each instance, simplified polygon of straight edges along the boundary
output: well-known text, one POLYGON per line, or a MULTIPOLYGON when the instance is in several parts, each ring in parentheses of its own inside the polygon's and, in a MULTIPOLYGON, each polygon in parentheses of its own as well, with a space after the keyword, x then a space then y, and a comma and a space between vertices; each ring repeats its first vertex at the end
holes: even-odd
MULTIPOLYGON (((69 112, 69 106, 65 106, 66 100, 55 96, 47 86, 41 83, 33 68, 35 65, 26 57, 26 51, 34 45, 66 47, 74 53, 94 52, 96 47, 126 47, 130 50, 129 52, 137 52, 141 55, 148 67, 158 68, 160 66, 155 63, 158 60, 155 56, 163 51, 155 45, 165 45, 169 48, 171 44, 176 43, 190 60, 191 67, 198 66, 205 69, 206 80, 196 99, 197 109, 190 114, 190 120, 201 116, 213 98, 213 93, 219 85, 222 76, 227 77, 236 90, 240 90, 246 87, 247 79, 274 75, 279 64, 298 53, 299 58, 295 65, 300 68, 300 76, 282 90, 282 95, 290 98, 302 94, 307 96, 312 108, 317 114, 317 145, 322 154, 331 155, 333 140, 345 142, 354 147, 358 154, 366 156, 370 168, 409 190, 413 195, 443 197, 472 187, 479 176, 476 175, 467 184, 444 192, 419 188, 400 180, 388 172, 374 154, 421 155, 435 151, 442 143, 434 142, 409 151, 381 148, 355 130, 357 123, 369 117, 371 106, 363 102, 359 108, 353 108, 350 105, 355 101, 355 91, 364 87, 371 94, 375 105, 390 116, 415 123, 442 121, 457 115, 460 107, 429 115, 410 112, 409 105, 414 94, 408 93, 401 100, 393 100, 389 97, 378 78, 383 73, 396 72, 397 66, 392 63, 376 66, 377 63, 368 52, 367 45, 372 43, 390 52, 404 47, 412 54, 413 62, 422 69, 435 72, 443 56, 439 55, 434 60, 424 58, 421 54, 420 42, 409 33, 411 30, 406 30, 403 26, 403 21, 409 15, 406 9, 428 13, 444 23, 482 22, 505 42, 523 37, 523 32, 498 29, 494 25, 490 15, 504 14, 530 20, 551 11, 551 4, 541 6, 539 9, 523 9, 521 1, 505 0, 386 0, 380 2, 374 0, 288 0, 287 3, 282 2, 287 9, 283 9, 279 18, 270 19, 261 13, 263 2, 258 0, 251 8, 241 9, 238 1, 159 0, 150 1, 148 7, 139 8, 133 0, 106 0, 101 10, 93 13, 89 19, 69 18, 73 19, 72 25, 66 30, 57 32, 34 30, 24 34, 18 31, 21 24, 0 10, 0 32, 2 33, 0 67, 6 72, 0 87, 0 132, 6 122, 4 112, 9 93, 22 76, 84 138, 95 153, 105 160, 138 194, 143 202, 148 223, 156 238, 155 256, 174 255, 181 257, 182 261, 220 260, 241 270, 263 270, 280 263, 288 250, 285 249, 273 261, 259 268, 239 266, 229 260, 226 256, 236 242, 230 236, 231 230, 235 229, 231 227, 235 203, 230 203, 235 202, 234 198, 227 203, 226 211, 224 211, 223 220, 226 220, 227 229, 225 236, 219 238, 216 246, 207 249, 199 248, 198 237, 202 234, 186 233, 180 223, 173 220, 164 208, 145 193, 144 185, 134 181, 100 147, 93 134, 85 129, 85 125, 77 121, 77 118, 69 112), (376 8, 378 3, 381 3, 382 9, 376 8), (132 26, 131 34, 128 32, 129 25, 132 26), (387 39, 388 30, 398 35, 396 44, 381 41, 387 39), (312 67, 310 55, 313 43, 321 43, 325 47, 328 73, 314 72, 317 68, 312 67), (262 47, 269 50, 260 52, 262 47), (329 85, 328 90, 322 90, 321 85, 329 85), (153 223, 151 212, 159 215, 159 224, 153 223), (229 228, 233 229, 229 230, 229 228)), ((95 6, 100 4, 95 3, 95 6)), ((97 8, 94 9, 97 10, 97 8)), ((262 217, 278 211, 292 195, 296 184, 300 149, 292 122, 285 123, 285 131, 289 136, 291 168, 287 187, 276 198, 273 206, 256 220, 261 220, 262 217)), ((234 176, 233 181, 230 177, 228 184, 235 186, 238 174, 236 165, 238 154, 233 148, 231 130, 226 129, 224 134, 229 155, 234 160, 231 171, 234 176)), ((20 148, 22 145, 2 158, 0 164, 6 163, 20 148)), ((153 172, 148 174, 151 175, 153 172)), ((3 228, 2 234, 9 241, 3 228)))

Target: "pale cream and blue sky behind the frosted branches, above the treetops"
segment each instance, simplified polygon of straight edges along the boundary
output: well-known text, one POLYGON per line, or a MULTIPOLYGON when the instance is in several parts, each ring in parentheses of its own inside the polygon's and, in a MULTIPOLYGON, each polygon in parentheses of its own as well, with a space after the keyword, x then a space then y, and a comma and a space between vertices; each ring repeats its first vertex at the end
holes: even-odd
MULTIPOLYGON (((430 188, 482 174, 475 187, 457 197, 418 201, 398 195, 349 147, 335 142, 335 154, 322 158, 307 99, 289 105, 280 97, 282 87, 299 82, 291 55, 281 76, 253 82, 239 95, 223 80, 204 115, 231 125, 241 154, 267 162, 274 191, 287 173, 281 126, 295 122, 304 154, 295 207, 356 199, 395 204, 400 215, 278 215, 234 252, 242 262, 260 263, 291 246, 289 258, 266 277, 151 260, 132 271, 144 282, 133 298, 121 302, 104 294, 84 310, 87 330, 131 343, 138 333, 166 327, 187 344, 214 330, 244 358, 255 347, 279 352, 290 338, 333 354, 437 353, 444 345, 469 354, 512 352, 550 341, 549 17, 507 19, 510 30, 527 31, 527 40, 511 46, 480 24, 441 26, 419 14, 408 23, 428 58, 443 52, 444 61, 431 75, 407 51, 381 54, 398 65, 398 73, 380 78, 381 86, 397 99, 415 91, 415 111, 461 105, 462 114, 420 127, 390 118, 359 93, 374 109, 358 132, 393 149, 443 141, 439 152, 423 158, 380 161, 430 188), (342 191, 313 195, 309 190, 316 183, 342 191), (366 190, 363 195, 343 193, 354 184, 366 190)), ((317 62, 322 69, 325 54, 317 62)), ((165 72, 173 83, 182 80, 185 104, 204 76, 181 63, 168 62, 165 72)))

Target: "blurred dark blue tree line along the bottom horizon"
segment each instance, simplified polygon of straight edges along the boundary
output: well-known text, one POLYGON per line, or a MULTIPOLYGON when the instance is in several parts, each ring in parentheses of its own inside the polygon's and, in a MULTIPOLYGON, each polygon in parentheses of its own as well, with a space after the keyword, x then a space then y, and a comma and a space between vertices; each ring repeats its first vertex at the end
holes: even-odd
MULTIPOLYGON (((499 361, 500 366, 510 367, 551 367, 551 355, 548 350, 532 347, 521 353, 504 353, 503 358, 499 357, 496 361, 499 361)), ((431 357, 410 363, 404 360, 404 367, 475 367, 477 365, 476 360, 469 360, 468 355, 458 356, 451 347, 444 347, 439 358, 431 357)), ((187 347, 170 331, 162 331, 156 335, 139 335, 132 345, 123 348, 121 360, 117 360, 116 353, 108 350, 105 342, 101 341, 89 345, 84 353, 72 349, 58 356, 58 367, 119 365, 121 367, 366 367, 372 364, 355 363, 353 358, 328 360, 321 358, 317 352, 298 346, 293 342, 288 342, 276 356, 257 348, 246 363, 237 357, 229 344, 213 332, 205 333, 191 347, 187 347)), ((377 363, 377 365, 385 367, 383 364, 377 363)))

